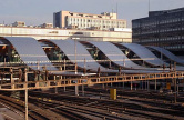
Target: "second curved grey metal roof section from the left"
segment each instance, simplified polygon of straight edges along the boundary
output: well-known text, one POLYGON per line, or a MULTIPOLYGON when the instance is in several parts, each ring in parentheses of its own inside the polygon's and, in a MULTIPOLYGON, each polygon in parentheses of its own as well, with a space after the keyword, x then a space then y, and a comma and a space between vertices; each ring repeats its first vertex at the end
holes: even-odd
POLYGON ((98 68, 100 67, 100 70, 102 72, 117 72, 116 70, 110 70, 99 64, 91 57, 88 50, 78 41, 74 40, 50 40, 50 41, 57 44, 73 63, 75 63, 75 43, 76 43, 76 63, 80 68, 98 71, 98 68))

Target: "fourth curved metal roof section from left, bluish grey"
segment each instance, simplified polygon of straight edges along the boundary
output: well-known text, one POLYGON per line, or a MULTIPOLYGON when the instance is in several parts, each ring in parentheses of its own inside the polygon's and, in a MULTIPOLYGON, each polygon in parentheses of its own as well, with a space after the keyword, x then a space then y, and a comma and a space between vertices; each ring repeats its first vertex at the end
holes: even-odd
POLYGON ((147 48, 136 44, 136 43, 120 43, 123 47, 132 50, 136 56, 139 56, 142 60, 145 62, 152 64, 152 66, 168 66, 161 59, 159 59, 154 53, 152 53, 147 48))

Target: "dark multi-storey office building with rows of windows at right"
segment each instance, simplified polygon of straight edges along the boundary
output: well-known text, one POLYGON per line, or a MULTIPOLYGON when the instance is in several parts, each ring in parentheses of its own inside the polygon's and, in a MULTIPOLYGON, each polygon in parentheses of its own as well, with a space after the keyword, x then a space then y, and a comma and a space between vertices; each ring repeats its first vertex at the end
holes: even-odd
POLYGON ((176 54, 184 50, 184 8, 151 11, 132 20, 132 40, 143 46, 163 47, 176 54))

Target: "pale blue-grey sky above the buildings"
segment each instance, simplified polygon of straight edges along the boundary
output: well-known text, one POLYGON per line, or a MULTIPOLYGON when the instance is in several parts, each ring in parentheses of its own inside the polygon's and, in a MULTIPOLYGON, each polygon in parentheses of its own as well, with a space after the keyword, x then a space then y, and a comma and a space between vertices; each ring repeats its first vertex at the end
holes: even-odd
MULTIPOLYGON (((149 0, 0 0, 0 23, 24 21, 27 26, 53 22, 53 12, 61 10, 95 13, 116 11, 117 18, 131 20, 149 16, 149 0)), ((150 0, 150 11, 184 7, 184 0, 150 0)))

